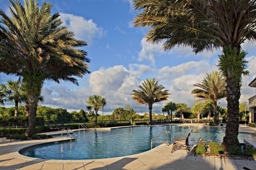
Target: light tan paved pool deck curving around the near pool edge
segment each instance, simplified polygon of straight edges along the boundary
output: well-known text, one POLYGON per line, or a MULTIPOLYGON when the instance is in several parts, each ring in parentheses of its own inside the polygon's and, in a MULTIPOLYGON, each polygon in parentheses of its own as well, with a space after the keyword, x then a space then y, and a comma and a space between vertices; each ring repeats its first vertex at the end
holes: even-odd
MULTIPOLYGON (((195 125, 195 124, 184 124, 195 125)), ((97 129, 100 130, 100 129, 97 129)), ((256 128, 240 125, 240 132, 254 132, 256 128)), ((172 144, 160 146, 131 156, 107 158, 98 160, 44 160, 26 158, 17 154, 20 148, 36 144, 61 140, 52 138, 47 140, 5 141, 0 142, 0 169, 20 170, 242 170, 243 167, 256 170, 256 161, 231 160, 220 158, 205 158, 188 156, 180 149, 171 153, 172 144)))

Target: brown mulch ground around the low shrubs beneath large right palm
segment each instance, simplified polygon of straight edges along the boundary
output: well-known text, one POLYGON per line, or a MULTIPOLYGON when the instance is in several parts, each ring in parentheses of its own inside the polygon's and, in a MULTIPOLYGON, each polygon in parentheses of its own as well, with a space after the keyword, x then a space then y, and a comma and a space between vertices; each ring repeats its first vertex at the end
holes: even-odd
POLYGON ((228 159, 238 159, 238 160, 256 160, 256 156, 247 156, 244 154, 241 155, 232 155, 228 152, 224 152, 224 154, 212 154, 210 146, 208 146, 205 154, 196 154, 196 147, 194 147, 190 152, 189 156, 199 156, 199 157, 210 157, 210 158, 228 158, 228 159))

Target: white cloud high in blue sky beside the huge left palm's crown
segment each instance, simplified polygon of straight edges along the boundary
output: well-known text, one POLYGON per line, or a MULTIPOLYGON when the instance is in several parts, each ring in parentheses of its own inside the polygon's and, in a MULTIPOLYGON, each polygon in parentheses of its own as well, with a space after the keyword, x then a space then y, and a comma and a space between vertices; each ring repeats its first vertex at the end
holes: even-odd
POLYGON ((99 27, 92 19, 86 20, 82 16, 60 13, 63 24, 75 33, 75 37, 91 44, 94 38, 101 38, 106 34, 102 27, 99 27))

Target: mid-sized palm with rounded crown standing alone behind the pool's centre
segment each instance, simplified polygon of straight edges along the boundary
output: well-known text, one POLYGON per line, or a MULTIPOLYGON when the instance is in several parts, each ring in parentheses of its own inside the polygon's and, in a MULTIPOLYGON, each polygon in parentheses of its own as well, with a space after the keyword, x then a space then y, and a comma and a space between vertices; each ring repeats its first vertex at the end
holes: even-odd
POLYGON ((163 90, 163 85, 158 85, 158 81, 146 79, 142 82, 142 86, 138 86, 140 90, 133 90, 132 99, 136 100, 137 105, 148 105, 150 124, 152 123, 152 105, 168 99, 168 90, 163 90))

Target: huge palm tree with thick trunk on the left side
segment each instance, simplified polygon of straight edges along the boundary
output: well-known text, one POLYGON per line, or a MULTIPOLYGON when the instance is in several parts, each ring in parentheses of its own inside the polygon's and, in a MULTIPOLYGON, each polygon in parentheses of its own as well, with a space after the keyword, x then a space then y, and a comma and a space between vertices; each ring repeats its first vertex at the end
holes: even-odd
POLYGON ((28 136, 35 133, 36 110, 44 81, 61 80, 78 85, 74 76, 88 71, 87 43, 61 26, 60 14, 51 15, 52 4, 35 0, 9 0, 12 17, 0 10, 0 72, 22 77, 29 104, 28 136))

